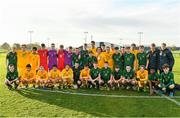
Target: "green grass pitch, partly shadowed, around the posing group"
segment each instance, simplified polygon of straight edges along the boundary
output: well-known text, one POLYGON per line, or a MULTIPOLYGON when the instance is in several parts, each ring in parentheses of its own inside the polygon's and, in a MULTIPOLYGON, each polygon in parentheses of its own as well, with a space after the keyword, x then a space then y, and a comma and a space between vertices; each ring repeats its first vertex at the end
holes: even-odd
MULTIPOLYGON (((174 67, 176 82, 180 83, 180 58, 176 58, 174 67)), ((64 117, 118 117, 118 116, 176 116, 180 117, 180 107, 167 99, 135 99, 79 96, 51 93, 38 90, 9 91, 4 86, 6 73, 5 55, 0 54, 0 116, 64 116, 64 117)), ((67 90, 64 90, 67 91, 67 90)), ((148 95, 133 91, 68 90, 71 92, 148 95)), ((179 93, 176 95, 180 95, 179 93)), ((180 99, 176 99, 180 102, 180 99)))

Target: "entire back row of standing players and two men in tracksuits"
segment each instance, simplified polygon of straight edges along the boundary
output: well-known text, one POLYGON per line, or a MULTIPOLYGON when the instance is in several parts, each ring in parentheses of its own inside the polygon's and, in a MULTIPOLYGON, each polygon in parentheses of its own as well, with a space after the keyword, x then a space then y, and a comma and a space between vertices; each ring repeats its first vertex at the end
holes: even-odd
POLYGON ((157 49, 154 43, 151 44, 148 52, 145 52, 142 45, 137 49, 135 44, 121 49, 114 47, 113 44, 110 47, 105 45, 95 47, 94 41, 91 42, 90 48, 87 47, 87 44, 84 44, 83 47, 75 48, 74 51, 72 47, 65 50, 63 45, 60 45, 57 51, 55 44, 51 44, 50 50, 46 49, 45 44, 41 44, 39 50, 33 47, 32 51, 28 51, 26 45, 22 45, 21 48, 21 50, 16 50, 13 47, 13 51, 9 52, 6 57, 7 65, 13 64, 20 77, 23 76, 28 64, 35 72, 39 67, 50 71, 54 66, 57 66, 62 71, 66 65, 69 65, 73 69, 76 64, 78 64, 80 70, 85 66, 92 69, 94 63, 97 63, 98 68, 102 69, 104 64, 107 63, 111 71, 114 71, 115 68, 123 71, 126 70, 126 67, 130 67, 137 72, 143 66, 149 72, 153 69, 160 73, 163 72, 164 64, 169 66, 170 71, 172 71, 174 65, 173 55, 166 48, 165 43, 161 45, 160 49, 157 49))

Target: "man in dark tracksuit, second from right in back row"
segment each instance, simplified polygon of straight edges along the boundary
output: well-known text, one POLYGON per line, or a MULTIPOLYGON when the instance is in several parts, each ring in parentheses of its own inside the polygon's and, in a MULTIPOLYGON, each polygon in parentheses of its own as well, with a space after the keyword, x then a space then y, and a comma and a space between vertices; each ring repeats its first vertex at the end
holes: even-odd
POLYGON ((147 65, 146 68, 148 72, 151 69, 154 69, 155 72, 159 69, 159 50, 156 49, 156 45, 154 43, 150 46, 150 51, 147 53, 147 65))

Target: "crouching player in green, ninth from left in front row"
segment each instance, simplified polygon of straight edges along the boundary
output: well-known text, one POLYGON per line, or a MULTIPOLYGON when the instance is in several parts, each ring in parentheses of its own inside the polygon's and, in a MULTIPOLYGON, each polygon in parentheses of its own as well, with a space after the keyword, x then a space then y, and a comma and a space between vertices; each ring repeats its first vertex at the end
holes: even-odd
POLYGON ((104 67, 101 69, 100 77, 99 77, 99 85, 102 86, 108 86, 108 90, 111 89, 110 80, 112 79, 112 70, 108 66, 108 62, 104 62, 104 67))

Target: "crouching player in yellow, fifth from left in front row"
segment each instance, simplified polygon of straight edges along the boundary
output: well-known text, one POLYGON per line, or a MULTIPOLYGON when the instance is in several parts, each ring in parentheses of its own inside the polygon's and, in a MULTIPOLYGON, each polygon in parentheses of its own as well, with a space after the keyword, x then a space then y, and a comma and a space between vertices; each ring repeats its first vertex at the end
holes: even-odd
POLYGON ((65 66, 65 69, 62 70, 61 75, 63 79, 63 86, 72 88, 73 87, 73 70, 70 68, 68 64, 65 66))

